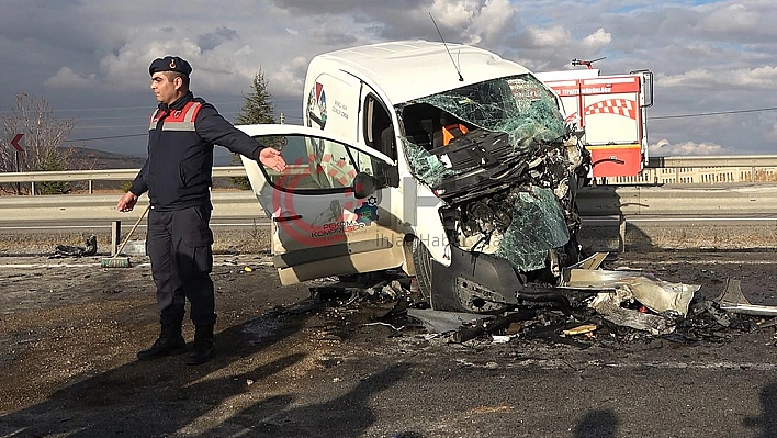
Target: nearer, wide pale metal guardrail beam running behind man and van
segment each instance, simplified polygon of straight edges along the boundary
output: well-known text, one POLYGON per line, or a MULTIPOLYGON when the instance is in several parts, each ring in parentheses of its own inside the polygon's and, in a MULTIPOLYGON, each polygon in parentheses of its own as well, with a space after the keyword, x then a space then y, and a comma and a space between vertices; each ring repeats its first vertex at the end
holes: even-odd
MULTIPOLYGON (((120 194, 0 196, 3 221, 122 220, 140 214, 148 202, 131 213, 116 211, 120 194)), ((250 190, 213 192, 214 217, 264 217, 250 190)), ((577 192, 583 216, 768 216, 777 221, 777 184, 731 187, 585 187, 577 192)))

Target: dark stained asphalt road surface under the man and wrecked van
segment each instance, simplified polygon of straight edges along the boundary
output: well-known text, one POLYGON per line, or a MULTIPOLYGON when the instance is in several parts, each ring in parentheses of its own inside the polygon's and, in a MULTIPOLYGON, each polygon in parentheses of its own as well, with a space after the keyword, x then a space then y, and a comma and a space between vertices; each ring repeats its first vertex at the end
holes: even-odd
MULTIPOLYGON (((758 318, 562 337, 578 322, 550 312, 508 342, 457 344, 385 316, 388 295, 315 301, 319 283, 281 287, 266 256, 219 256, 219 355, 192 368, 134 360, 158 330, 144 262, 0 258, 0 437, 777 436, 777 339, 758 318)), ((623 267, 698 299, 725 278, 753 303, 777 296, 773 252, 608 261, 623 267)))

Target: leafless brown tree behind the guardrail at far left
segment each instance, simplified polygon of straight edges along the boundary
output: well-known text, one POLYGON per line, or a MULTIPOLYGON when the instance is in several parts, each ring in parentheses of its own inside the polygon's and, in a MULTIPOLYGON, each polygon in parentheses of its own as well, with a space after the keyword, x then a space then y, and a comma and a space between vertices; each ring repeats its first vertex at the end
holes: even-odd
MULTIPOLYGON (((48 102, 24 92, 16 94, 15 106, 1 114, 0 171, 50 171, 68 168, 72 148, 61 147, 76 126, 75 119, 57 119, 48 102), (24 153, 16 153, 11 139, 24 134, 24 153)), ((64 193, 69 190, 61 182, 42 183, 37 190, 44 194, 64 193)), ((5 188, 8 190, 8 188, 5 188)), ((19 184, 13 192, 21 194, 19 184)))

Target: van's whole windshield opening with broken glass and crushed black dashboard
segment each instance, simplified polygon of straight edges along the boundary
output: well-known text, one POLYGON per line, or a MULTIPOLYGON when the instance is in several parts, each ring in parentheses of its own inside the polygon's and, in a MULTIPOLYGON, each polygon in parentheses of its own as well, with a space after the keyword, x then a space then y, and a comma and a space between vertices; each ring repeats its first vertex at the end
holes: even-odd
POLYGON ((416 99, 398 105, 397 114, 410 168, 439 192, 520 176, 521 164, 536 164, 560 148, 568 132, 555 96, 531 75, 416 99), (447 143, 443 127, 451 125, 463 126, 465 134, 447 143), (483 169, 474 180, 464 179, 483 169), (461 181, 454 182, 457 177, 461 181))

